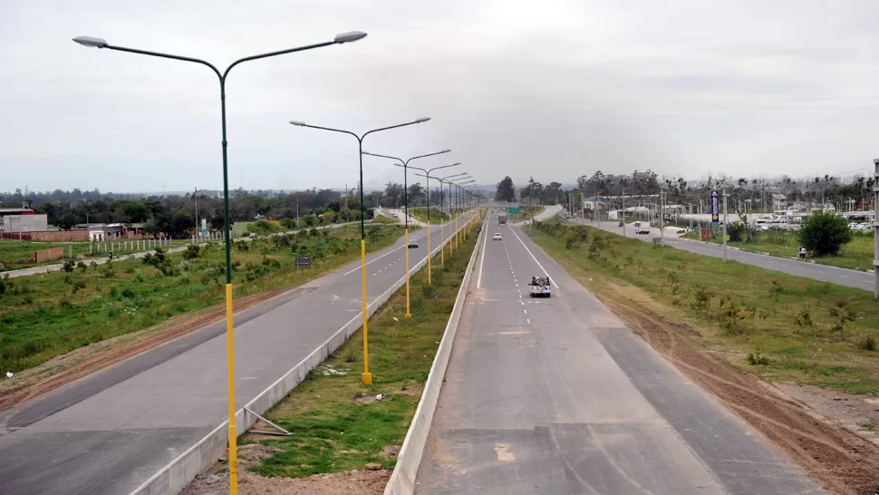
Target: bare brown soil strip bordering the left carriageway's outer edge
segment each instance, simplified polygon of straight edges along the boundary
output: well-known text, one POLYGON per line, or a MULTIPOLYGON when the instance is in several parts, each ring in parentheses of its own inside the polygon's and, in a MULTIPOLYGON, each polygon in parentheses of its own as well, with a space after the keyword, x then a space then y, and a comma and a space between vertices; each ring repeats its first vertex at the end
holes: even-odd
MULTIPOLYGON (((254 296, 240 297, 234 302, 234 311, 244 311, 257 306, 287 290, 289 289, 277 289, 254 296)), ((4 381, 4 390, 0 390, 0 411, 51 392, 183 335, 191 334, 225 316, 224 305, 211 306, 194 314, 175 316, 167 322, 134 334, 120 335, 95 345, 82 347, 31 370, 15 374, 14 381, 4 381)))

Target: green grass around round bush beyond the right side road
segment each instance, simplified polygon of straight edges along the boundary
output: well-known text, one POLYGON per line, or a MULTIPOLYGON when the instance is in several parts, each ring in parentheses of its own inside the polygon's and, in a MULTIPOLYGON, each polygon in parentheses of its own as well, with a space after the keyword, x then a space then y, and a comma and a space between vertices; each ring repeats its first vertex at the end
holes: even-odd
MULTIPOLYGON (((699 232, 693 231, 684 236, 685 238, 699 239, 699 232)), ((706 242, 722 244, 723 239, 718 236, 706 242)), ((811 257, 809 259, 822 265, 850 269, 873 269, 874 238, 872 233, 853 233, 852 242, 843 246, 838 256, 811 257)), ((768 253, 778 257, 797 257, 799 252, 799 240, 797 232, 758 232, 756 242, 729 242, 728 246, 741 248, 748 251, 768 253)))

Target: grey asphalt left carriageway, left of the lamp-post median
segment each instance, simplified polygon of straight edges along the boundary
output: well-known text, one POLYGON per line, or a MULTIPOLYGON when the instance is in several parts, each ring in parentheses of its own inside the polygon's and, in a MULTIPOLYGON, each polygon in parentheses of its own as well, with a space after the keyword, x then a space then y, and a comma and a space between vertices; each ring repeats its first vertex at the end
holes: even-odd
MULTIPOLYGON (((432 232, 436 248, 440 227, 432 232)), ((426 235, 411 235, 420 240, 411 265, 425 257, 426 235)), ((400 239, 367 258, 371 301, 404 275, 405 254, 400 239)), ((235 316, 239 408, 362 311, 360 266, 235 316)), ((219 322, 0 412, 0 494, 128 494, 224 422, 227 411, 219 322)))

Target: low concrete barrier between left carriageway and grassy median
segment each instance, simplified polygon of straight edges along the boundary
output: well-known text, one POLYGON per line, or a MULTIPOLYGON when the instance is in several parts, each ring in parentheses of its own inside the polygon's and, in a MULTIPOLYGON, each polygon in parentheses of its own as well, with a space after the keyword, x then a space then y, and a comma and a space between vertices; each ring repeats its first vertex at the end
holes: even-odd
MULTIPOLYGON (((449 238, 451 237, 449 236, 449 238)), ((440 248, 445 247, 448 243, 449 240, 446 240, 440 246, 433 249, 430 253, 430 257, 439 253, 440 248)), ((474 250, 474 252, 475 251, 476 250, 474 250)), ((472 265, 472 263, 473 260, 471 258, 470 264, 472 265)), ((427 257, 415 264, 414 267, 410 268, 410 276, 417 273, 421 267, 424 267, 425 265, 427 265, 427 257)), ((469 277, 469 275, 466 275, 465 277, 469 277)), ((379 296, 372 301, 372 304, 367 307, 367 315, 372 316, 379 307, 391 298, 394 292, 405 284, 406 277, 401 277, 400 280, 395 282, 390 289, 382 294, 382 296, 379 296)), ((464 285, 462 284, 462 287, 463 286, 464 285)), ((296 364, 281 378, 277 379, 275 383, 272 383, 266 388, 266 390, 256 395, 252 401, 246 403, 245 407, 253 412, 262 414, 275 405, 275 403, 280 402, 285 398, 287 393, 290 393, 290 391, 295 388, 296 385, 302 383, 308 372, 313 370, 318 364, 321 364, 324 359, 338 349, 340 345, 343 345, 345 340, 362 326, 362 322, 362 314, 353 317, 351 321, 343 325, 342 328, 330 336, 324 344, 317 349, 314 349, 312 354, 308 354, 307 357, 296 364)), ((256 422, 256 419, 256 416, 246 412, 244 408, 239 409, 235 414, 237 431, 244 434, 247 429, 256 422)), ((152 475, 149 480, 144 481, 140 487, 131 491, 130 495, 168 495, 179 493, 186 488, 189 481, 193 480, 199 473, 207 470, 214 461, 217 461, 217 459, 222 457, 226 452, 227 444, 228 421, 225 421, 187 451, 180 454, 173 461, 170 461, 169 464, 159 470, 156 474, 152 475)), ((416 470, 417 469, 418 466, 416 465, 416 470)))

